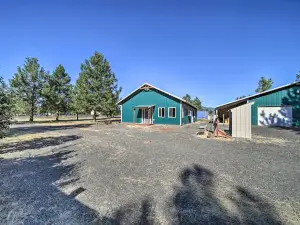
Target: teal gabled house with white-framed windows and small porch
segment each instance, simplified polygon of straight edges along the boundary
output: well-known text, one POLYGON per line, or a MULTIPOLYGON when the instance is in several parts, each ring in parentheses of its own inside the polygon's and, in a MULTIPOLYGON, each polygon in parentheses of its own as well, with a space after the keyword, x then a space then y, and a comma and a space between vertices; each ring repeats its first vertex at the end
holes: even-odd
POLYGON ((118 102, 122 123, 184 125, 197 118, 197 108, 182 98, 143 84, 118 102))

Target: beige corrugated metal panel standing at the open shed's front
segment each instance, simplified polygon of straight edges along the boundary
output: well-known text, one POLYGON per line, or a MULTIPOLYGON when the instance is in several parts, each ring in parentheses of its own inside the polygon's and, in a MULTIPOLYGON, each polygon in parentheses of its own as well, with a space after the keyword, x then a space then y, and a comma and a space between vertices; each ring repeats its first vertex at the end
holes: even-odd
POLYGON ((251 105, 238 106, 230 110, 230 132, 232 137, 251 139, 251 105))

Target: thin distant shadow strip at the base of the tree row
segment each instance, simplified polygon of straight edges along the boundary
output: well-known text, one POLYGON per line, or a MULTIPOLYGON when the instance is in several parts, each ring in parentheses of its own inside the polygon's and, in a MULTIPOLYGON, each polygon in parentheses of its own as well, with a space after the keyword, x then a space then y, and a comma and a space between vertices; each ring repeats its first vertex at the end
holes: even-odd
POLYGON ((37 134, 49 131, 59 131, 59 130, 69 130, 76 128, 87 128, 92 126, 93 124, 70 124, 70 125, 51 125, 51 126, 43 126, 43 125, 30 125, 28 126, 20 126, 13 127, 9 129, 8 136, 19 136, 22 134, 37 134))

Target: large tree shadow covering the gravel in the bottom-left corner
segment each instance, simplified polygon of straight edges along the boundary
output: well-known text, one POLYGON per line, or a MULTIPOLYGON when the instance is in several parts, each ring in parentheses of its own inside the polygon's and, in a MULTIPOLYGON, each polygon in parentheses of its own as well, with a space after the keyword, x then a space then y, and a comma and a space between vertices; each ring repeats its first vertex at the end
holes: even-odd
POLYGON ((94 210, 56 184, 76 177, 75 165, 61 163, 72 153, 0 159, 0 224, 90 224, 97 219, 94 210))

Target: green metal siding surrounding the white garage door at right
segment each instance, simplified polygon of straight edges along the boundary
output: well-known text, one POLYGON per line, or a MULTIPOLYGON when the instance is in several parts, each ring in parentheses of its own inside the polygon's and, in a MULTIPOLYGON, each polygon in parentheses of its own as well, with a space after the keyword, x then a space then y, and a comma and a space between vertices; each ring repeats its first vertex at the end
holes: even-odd
POLYGON ((254 102, 251 108, 252 125, 257 125, 257 108, 260 106, 292 106, 293 126, 300 126, 300 86, 279 90, 264 96, 249 100, 254 102), (297 90, 299 93, 297 93, 297 90))

